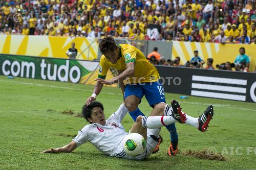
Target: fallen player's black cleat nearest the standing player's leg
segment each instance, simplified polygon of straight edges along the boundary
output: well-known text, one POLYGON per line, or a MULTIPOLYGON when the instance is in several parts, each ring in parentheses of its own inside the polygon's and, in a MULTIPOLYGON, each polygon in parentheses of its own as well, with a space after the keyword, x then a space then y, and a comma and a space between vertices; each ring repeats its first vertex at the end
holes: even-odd
POLYGON ((181 111, 181 107, 180 104, 178 103, 178 101, 176 100, 172 100, 171 102, 172 104, 172 116, 181 124, 186 123, 187 118, 186 118, 186 114, 182 113, 181 111))

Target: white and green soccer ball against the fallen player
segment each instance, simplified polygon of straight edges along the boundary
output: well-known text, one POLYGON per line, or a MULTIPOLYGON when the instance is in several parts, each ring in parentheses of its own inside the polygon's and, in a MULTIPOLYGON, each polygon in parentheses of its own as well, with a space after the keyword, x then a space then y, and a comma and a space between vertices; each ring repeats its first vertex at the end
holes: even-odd
POLYGON ((129 156, 139 156, 146 149, 146 140, 138 133, 130 133, 122 140, 123 151, 129 156))

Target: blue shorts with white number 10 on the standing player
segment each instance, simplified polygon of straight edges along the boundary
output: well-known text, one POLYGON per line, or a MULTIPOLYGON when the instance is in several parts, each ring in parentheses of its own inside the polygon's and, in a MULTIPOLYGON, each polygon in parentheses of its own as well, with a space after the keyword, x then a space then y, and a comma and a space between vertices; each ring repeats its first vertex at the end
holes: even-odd
POLYGON ((126 84, 124 88, 124 99, 127 96, 136 95, 138 98, 143 98, 145 95, 148 104, 154 108, 155 104, 165 102, 164 89, 159 82, 148 82, 144 84, 126 84))

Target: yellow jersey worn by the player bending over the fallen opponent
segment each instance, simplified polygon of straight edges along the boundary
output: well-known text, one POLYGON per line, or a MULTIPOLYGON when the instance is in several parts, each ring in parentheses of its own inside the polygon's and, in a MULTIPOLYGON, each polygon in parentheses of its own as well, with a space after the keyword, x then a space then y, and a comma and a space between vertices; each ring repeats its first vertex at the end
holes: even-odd
POLYGON ((126 63, 135 62, 135 71, 133 77, 130 80, 125 80, 124 84, 127 83, 147 83, 157 82, 159 79, 159 73, 156 67, 147 61, 144 54, 133 45, 130 44, 119 44, 119 58, 115 64, 101 56, 99 62, 99 78, 105 79, 106 74, 110 67, 116 70, 126 69, 126 63))

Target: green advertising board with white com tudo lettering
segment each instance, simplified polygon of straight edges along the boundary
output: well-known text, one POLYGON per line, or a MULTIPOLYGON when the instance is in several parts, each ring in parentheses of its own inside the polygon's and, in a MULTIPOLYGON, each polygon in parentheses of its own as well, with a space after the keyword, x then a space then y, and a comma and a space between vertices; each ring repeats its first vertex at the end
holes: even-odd
MULTIPOLYGON (((0 75, 5 76, 94 85, 99 62, 0 54, 0 68, 0 75)), ((112 78, 109 71, 106 79, 112 78)))

